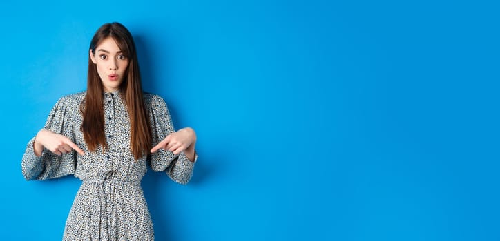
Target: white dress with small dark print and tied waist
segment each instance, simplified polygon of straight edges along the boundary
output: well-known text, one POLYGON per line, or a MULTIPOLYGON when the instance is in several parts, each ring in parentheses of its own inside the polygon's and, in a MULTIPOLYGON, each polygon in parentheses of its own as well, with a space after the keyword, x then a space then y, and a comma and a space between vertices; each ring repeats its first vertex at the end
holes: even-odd
MULTIPOLYGON (((85 155, 72 151, 57 156, 44 149, 37 157, 33 151, 35 138, 32 138, 21 164, 23 176, 27 180, 46 180, 74 174, 81 179, 63 240, 154 240, 153 224, 141 187, 146 165, 153 171, 165 171, 175 182, 185 184, 191 179, 194 163, 184 152, 174 155, 163 149, 134 160, 124 100, 119 91, 103 95, 108 149, 99 145, 96 151, 90 152, 84 142, 80 105, 85 92, 64 96, 50 111, 44 129, 67 136, 85 155)), ((174 131, 173 124, 160 96, 144 94, 144 103, 155 146, 174 131)))

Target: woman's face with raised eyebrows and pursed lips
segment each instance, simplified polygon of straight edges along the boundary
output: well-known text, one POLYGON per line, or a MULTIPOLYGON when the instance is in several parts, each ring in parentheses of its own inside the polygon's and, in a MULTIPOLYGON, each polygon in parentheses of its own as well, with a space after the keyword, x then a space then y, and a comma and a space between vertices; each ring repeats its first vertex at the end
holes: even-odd
POLYGON ((97 65, 97 74, 101 78, 104 91, 118 90, 124 80, 128 58, 122 54, 115 40, 111 37, 104 39, 95 48, 95 55, 90 50, 90 59, 97 65))

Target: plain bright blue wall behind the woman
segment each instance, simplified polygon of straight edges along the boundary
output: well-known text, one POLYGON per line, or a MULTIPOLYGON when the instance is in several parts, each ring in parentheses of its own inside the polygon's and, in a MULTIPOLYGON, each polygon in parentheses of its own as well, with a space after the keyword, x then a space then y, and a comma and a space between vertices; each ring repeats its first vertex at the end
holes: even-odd
POLYGON ((144 89, 198 134, 142 182, 157 240, 500 240, 494 1, 0 3, 0 237, 60 240, 80 181, 26 182, 57 99, 119 21, 144 89))

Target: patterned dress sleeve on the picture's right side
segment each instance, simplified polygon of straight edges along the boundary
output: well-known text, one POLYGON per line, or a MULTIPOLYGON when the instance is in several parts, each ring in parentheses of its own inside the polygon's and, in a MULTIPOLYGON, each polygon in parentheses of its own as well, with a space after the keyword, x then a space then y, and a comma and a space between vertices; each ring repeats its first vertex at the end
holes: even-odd
MULTIPOLYGON (((172 119, 165 101, 160 97, 151 96, 149 118, 151 123, 151 135, 153 147, 164 140, 166 136, 174 132, 172 119)), ((182 151, 174 155, 171 151, 159 149, 148 157, 149 166, 153 171, 165 171, 175 182, 186 184, 193 176, 193 169, 198 155, 195 153, 195 161, 191 162, 182 151)))

